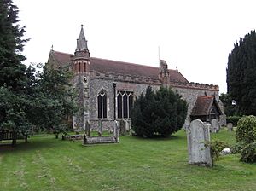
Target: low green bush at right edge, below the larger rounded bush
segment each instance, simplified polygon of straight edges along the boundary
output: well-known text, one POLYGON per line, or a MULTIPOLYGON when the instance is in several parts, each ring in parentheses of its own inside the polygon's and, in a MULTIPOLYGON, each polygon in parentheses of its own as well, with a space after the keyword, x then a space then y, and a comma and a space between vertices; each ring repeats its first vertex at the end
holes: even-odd
POLYGON ((256 163, 256 142, 249 143, 242 149, 240 160, 246 163, 256 163))

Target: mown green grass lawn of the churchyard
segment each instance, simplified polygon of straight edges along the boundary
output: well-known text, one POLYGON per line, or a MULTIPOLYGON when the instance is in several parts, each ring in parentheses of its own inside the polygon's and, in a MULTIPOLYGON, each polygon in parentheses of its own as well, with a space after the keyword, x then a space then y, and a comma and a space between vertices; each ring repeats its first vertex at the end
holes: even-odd
MULTIPOLYGON (((235 142, 226 130, 211 136, 235 142)), ((183 130, 87 147, 32 136, 16 148, 0 146, 0 190, 256 190, 256 164, 241 163, 236 154, 220 157, 213 168, 189 165, 183 130)))

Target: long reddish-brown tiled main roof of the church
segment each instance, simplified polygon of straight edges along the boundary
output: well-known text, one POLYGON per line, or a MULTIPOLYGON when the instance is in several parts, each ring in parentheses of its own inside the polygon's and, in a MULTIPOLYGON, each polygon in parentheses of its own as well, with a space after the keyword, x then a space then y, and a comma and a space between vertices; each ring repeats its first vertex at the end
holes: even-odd
MULTIPOLYGON (((62 53, 55 50, 50 51, 50 56, 61 67, 72 63, 72 54, 62 53)), ((159 67, 148 67, 145 65, 133 64, 124 61, 111 61, 102 58, 90 57, 90 71, 94 72, 108 72, 119 75, 129 75, 134 77, 144 78, 158 78, 160 73, 159 67)), ((170 73, 170 80, 173 82, 189 83, 183 75, 177 70, 168 70, 170 73)))

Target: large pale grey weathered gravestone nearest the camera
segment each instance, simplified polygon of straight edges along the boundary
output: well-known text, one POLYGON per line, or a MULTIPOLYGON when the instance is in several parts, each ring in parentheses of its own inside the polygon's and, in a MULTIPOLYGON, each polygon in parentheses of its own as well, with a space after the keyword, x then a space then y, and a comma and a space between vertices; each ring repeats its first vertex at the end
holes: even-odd
POLYGON ((189 164, 212 166, 210 148, 205 146, 210 141, 209 125, 196 119, 186 129, 189 150, 189 164))

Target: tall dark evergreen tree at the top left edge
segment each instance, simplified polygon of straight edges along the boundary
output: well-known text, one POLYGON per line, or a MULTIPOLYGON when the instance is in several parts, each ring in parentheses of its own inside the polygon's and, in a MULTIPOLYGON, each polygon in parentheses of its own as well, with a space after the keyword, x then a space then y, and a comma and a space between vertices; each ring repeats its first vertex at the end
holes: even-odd
POLYGON ((27 39, 22 39, 25 27, 18 24, 18 13, 11 0, 0 1, 0 86, 10 90, 22 89, 26 78, 21 52, 27 39))

